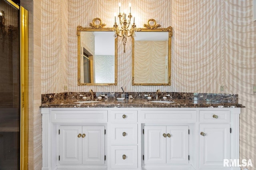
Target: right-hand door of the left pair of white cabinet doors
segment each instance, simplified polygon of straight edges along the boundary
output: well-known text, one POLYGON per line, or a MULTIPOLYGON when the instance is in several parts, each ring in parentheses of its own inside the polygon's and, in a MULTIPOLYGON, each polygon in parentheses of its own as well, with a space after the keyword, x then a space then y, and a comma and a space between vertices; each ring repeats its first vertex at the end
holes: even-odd
POLYGON ((104 164, 105 127, 84 126, 82 138, 83 164, 104 164))

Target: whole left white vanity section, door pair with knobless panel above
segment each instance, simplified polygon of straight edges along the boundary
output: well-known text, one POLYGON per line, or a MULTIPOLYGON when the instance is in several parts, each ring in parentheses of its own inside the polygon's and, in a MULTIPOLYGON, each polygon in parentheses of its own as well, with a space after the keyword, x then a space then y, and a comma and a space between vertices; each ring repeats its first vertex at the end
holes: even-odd
POLYGON ((106 108, 42 108, 42 170, 106 170, 106 108))

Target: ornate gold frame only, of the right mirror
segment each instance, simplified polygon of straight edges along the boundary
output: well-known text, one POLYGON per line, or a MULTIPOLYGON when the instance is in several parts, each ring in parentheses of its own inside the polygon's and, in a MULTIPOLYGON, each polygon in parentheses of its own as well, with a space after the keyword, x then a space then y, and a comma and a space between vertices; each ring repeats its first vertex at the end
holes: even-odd
MULTIPOLYGON (((148 24, 144 24, 145 28, 137 28, 136 32, 168 32, 168 82, 167 83, 138 83, 134 82, 134 38, 132 37, 132 85, 171 85, 171 37, 172 27, 158 28, 161 25, 156 24, 156 20, 148 20, 148 24), (154 23, 154 24, 150 24, 154 23)), ((136 39, 136 37, 135 37, 136 39)))

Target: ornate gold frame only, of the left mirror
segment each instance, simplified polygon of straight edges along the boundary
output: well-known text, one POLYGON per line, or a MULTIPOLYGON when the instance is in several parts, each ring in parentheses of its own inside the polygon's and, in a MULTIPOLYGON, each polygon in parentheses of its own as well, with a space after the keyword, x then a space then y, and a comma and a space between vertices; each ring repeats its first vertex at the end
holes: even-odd
MULTIPOLYGON (((114 83, 82 83, 80 81, 81 78, 81 68, 80 68, 80 64, 81 64, 81 59, 80 59, 80 54, 81 54, 81 48, 80 48, 80 33, 81 32, 113 32, 113 28, 103 28, 104 26, 106 26, 106 24, 102 24, 102 21, 100 18, 94 18, 92 20, 92 23, 90 23, 90 27, 89 28, 84 28, 82 26, 78 26, 76 29, 76 35, 78 37, 78 79, 77 79, 77 83, 78 85, 117 85, 117 53, 118 53, 118 39, 113 37, 113 41, 115 41, 115 57, 114 57, 114 83), (98 21, 97 21, 98 20, 98 21), (98 22, 98 24, 95 23, 98 22)), ((114 34, 114 33, 113 33, 114 34)))

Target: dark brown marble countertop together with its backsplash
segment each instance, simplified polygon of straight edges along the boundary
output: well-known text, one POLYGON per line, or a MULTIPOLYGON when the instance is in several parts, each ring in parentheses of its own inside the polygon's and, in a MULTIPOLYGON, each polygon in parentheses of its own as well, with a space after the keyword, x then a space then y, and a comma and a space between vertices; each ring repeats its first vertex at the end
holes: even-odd
POLYGON ((237 94, 160 92, 159 101, 163 101, 162 98, 167 96, 166 101, 174 103, 152 103, 147 97, 152 97, 150 101, 154 101, 154 92, 128 92, 129 98, 132 99, 125 100, 116 99, 121 97, 120 92, 94 92, 94 99, 98 99, 102 94, 106 97, 97 103, 74 103, 90 99, 91 94, 88 92, 43 94, 40 107, 244 107, 238 104, 237 94))

